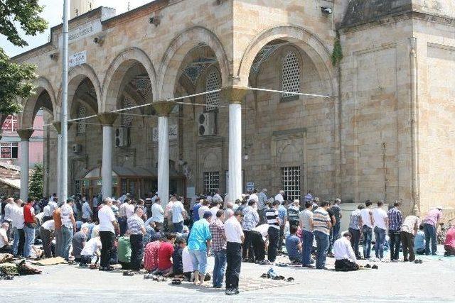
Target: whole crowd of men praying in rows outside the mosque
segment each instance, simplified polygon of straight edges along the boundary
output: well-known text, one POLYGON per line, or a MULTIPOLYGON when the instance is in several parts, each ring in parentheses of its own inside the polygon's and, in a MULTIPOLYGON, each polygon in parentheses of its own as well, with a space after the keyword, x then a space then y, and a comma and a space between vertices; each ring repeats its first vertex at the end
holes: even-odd
MULTIPOLYGON (((124 194, 117 200, 95 196, 65 203, 53 195, 41 205, 34 199, 23 203, 8 198, 1 204, 0 253, 60 256, 105 271, 119 264, 124 275, 144 268, 151 277, 186 279, 195 285, 210 280, 207 258, 213 255, 213 287, 223 287, 225 280, 228 295, 239 293, 242 262, 274 264, 283 253, 294 265, 321 270, 327 257, 335 258, 337 271, 358 270, 359 259, 384 260, 385 249, 390 249, 392 262, 400 259, 401 249, 405 262, 416 262, 416 254, 437 253, 439 206, 421 220, 415 215, 403 218, 400 202, 385 210, 383 202, 373 208, 367 200, 350 214, 348 231, 341 233, 341 199, 320 201, 311 191, 302 202, 284 198, 283 191, 268 197, 267 189, 252 190, 235 203, 218 190, 188 206, 172 196, 164 207, 158 192, 146 199, 124 194)), ((455 224, 446 231, 444 249, 446 255, 455 255, 455 224)))

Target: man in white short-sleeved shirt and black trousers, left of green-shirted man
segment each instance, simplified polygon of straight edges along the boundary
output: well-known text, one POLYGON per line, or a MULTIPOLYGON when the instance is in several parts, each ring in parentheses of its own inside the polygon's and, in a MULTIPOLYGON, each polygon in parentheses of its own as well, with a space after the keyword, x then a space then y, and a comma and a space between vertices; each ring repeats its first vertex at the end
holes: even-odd
POLYGON ((100 239, 101 239, 101 261, 100 270, 114 270, 109 265, 112 247, 114 246, 115 233, 118 231, 118 224, 115 220, 114 211, 112 211, 112 199, 105 198, 103 206, 98 211, 100 219, 100 239))

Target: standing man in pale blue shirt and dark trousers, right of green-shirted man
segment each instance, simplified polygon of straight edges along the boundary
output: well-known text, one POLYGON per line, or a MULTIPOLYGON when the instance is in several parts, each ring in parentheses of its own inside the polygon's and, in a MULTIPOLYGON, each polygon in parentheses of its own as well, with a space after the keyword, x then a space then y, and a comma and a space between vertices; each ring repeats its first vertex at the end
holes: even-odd
POLYGON ((141 217, 144 215, 144 209, 136 206, 134 215, 128 218, 129 243, 131 243, 131 261, 132 270, 140 270, 142 257, 144 257, 144 234, 145 226, 141 217))

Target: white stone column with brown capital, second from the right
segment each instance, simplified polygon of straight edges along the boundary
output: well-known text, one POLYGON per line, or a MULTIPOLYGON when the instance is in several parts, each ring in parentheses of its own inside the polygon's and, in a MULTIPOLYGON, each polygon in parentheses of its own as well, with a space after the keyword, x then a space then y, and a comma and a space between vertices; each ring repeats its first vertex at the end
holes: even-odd
POLYGON ((176 106, 172 101, 156 101, 153 104, 158 114, 158 194, 161 205, 169 202, 169 114, 176 106))

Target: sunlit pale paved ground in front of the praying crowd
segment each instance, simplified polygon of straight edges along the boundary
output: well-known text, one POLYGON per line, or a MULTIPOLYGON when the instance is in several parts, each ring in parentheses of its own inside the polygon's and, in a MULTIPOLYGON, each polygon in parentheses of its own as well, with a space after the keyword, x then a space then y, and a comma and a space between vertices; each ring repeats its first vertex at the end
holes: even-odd
MULTIPOLYGON (((241 293, 235 297, 209 286, 174 286, 143 275, 54 265, 39 267, 42 275, 0 281, 0 302, 455 302, 455 258, 422 260, 419 265, 375 263, 378 270, 358 272, 274 267, 279 275, 294 277, 294 283, 263 280, 259 276, 270 266, 244 263, 241 293), (33 299, 24 298, 26 293, 33 299)), ((329 268, 333 262, 328 259, 329 268)), ((212 267, 213 258, 209 263, 212 267)))

